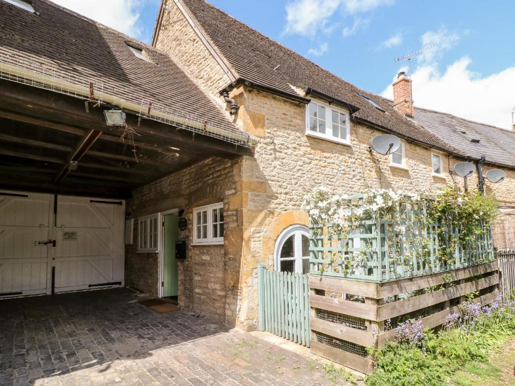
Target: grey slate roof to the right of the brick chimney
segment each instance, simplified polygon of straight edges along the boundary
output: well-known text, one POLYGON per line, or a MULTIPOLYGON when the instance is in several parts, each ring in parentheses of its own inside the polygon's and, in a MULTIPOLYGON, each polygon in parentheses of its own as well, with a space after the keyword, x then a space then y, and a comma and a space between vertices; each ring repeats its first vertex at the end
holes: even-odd
POLYGON ((513 131, 418 107, 415 121, 473 159, 485 155, 489 163, 515 167, 513 131))

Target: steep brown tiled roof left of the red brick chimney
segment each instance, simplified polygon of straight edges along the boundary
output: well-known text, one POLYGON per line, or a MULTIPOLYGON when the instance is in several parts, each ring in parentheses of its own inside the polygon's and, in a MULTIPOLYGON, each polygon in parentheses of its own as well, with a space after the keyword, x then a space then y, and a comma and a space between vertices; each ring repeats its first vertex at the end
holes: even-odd
POLYGON ((358 120, 370 122, 429 146, 461 154, 460 150, 406 119, 386 99, 358 89, 204 0, 180 1, 197 26, 225 58, 226 63, 236 71, 237 74, 234 75, 237 78, 297 98, 299 95, 292 86, 300 89, 311 87, 329 97, 358 107, 359 110, 353 114, 358 120), (368 96, 385 112, 373 107, 359 94, 368 96))

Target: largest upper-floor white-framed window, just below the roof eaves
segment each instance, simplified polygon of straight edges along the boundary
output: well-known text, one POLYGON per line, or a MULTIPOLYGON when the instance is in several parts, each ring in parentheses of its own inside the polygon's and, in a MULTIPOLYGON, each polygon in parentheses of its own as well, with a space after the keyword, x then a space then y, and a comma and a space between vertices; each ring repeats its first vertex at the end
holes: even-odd
POLYGON ((306 135, 350 145, 348 111, 323 102, 311 101, 306 106, 306 135))

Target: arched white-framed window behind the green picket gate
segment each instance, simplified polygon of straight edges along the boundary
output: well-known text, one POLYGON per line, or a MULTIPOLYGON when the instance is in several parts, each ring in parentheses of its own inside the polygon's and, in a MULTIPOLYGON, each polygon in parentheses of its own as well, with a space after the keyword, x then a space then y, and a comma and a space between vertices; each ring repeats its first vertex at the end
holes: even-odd
POLYGON ((279 235, 273 254, 276 271, 310 272, 309 235, 304 225, 291 225, 279 235))

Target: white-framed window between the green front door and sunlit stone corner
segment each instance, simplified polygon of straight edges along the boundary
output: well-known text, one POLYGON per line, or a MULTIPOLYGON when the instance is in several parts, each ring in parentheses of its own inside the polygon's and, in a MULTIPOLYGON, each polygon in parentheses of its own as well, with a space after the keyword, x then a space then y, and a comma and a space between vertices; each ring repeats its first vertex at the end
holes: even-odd
POLYGON ((224 243, 224 203, 193 209, 193 244, 224 243))

